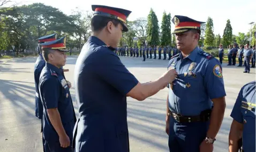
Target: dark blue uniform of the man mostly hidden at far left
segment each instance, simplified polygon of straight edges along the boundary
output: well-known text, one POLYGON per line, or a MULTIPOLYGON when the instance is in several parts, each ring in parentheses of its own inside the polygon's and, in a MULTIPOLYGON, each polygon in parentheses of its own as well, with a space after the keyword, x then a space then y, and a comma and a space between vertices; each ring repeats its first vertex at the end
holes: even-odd
POLYGON ((35 62, 34 67, 34 79, 35 79, 35 116, 39 119, 43 117, 43 104, 41 97, 39 95, 39 78, 43 67, 46 65, 46 61, 43 59, 42 54, 40 54, 35 62))

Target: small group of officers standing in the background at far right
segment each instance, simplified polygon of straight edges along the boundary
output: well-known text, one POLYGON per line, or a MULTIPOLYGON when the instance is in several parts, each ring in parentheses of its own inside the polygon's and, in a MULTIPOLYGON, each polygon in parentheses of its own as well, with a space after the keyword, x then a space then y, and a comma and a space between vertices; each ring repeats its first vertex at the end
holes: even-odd
MULTIPOLYGON (((223 49, 223 46, 220 45, 219 58, 220 58, 221 64, 223 60, 223 55, 224 55, 224 49, 223 49)), ((233 45, 233 47, 232 45, 229 45, 228 65, 229 66, 236 65, 236 58, 238 58, 238 66, 245 67, 244 73, 250 73, 250 67, 255 68, 255 60, 256 60, 255 45, 253 47, 250 47, 249 44, 245 44, 244 46, 240 45, 239 49, 236 48, 235 44, 233 45)))

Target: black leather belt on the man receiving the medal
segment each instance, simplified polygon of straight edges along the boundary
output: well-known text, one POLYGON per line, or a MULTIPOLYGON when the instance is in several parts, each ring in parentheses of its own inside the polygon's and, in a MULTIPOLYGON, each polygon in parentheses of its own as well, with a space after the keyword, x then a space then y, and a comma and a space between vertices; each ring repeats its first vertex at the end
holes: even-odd
POLYGON ((182 116, 178 113, 171 112, 171 110, 169 109, 169 115, 179 123, 192 123, 192 122, 198 122, 198 121, 205 122, 210 119, 211 113, 212 113, 212 109, 208 109, 208 110, 202 111, 198 116, 182 116))

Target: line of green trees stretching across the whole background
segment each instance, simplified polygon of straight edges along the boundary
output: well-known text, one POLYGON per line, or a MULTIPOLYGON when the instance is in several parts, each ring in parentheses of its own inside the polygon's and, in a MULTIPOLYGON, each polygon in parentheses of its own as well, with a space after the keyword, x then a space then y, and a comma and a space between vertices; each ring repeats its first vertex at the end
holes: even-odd
MULTIPOLYGON (((0 50, 13 49, 17 54, 19 50, 27 48, 34 50, 37 45, 36 39, 52 33, 57 33, 58 37, 66 35, 66 47, 76 47, 80 50, 91 35, 91 11, 82 12, 76 9, 67 16, 59 9, 42 3, 4 7, 7 1, 0 2, 5 2, 0 5, 0 50)), ((127 26, 129 32, 123 33, 120 46, 176 45, 175 35, 171 35, 171 14, 165 11, 161 26, 153 9, 150 9, 147 18, 128 20, 127 26)), ((253 32, 255 25, 252 28, 253 32)), ((252 35, 252 44, 255 44, 255 36, 252 35)), ((201 25, 199 44, 211 47, 223 44, 227 47, 231 43, 248 43, 249 36, 250 31, 246 34, 232 34, 230 20, 227 20, 223 37, 220 34, 214 35, 213 20, 209 17, 207 23, 201 25)))

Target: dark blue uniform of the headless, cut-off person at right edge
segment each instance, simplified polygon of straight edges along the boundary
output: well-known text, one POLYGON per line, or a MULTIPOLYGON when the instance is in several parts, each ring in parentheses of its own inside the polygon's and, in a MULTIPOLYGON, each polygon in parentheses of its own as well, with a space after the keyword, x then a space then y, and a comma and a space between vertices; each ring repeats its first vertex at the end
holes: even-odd
POLYGON ((243 149, 255 151, 255 81, 247 83, 240 90, 231 117, 243 127, 243 149))

